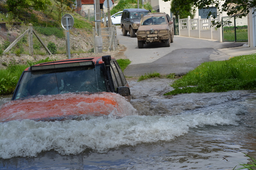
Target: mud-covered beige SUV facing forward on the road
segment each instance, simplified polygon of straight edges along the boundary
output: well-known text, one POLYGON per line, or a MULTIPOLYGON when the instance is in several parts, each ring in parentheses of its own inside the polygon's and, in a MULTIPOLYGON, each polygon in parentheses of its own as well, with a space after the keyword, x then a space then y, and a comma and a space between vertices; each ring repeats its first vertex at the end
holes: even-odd
POLYGON ((143 16, 136 34, 139 48, 154 42, 164 42, 165 47, 170 47, 174 35, 171 18, 165 12, 148 13, 143 16))

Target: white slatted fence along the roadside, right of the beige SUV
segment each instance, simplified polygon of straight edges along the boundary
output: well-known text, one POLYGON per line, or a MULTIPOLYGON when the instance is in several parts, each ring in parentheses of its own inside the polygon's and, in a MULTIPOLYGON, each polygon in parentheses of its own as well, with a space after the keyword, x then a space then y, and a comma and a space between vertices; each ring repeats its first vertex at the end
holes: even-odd
MULTIPOLYGON (((212 17, 201 19, 200 16, 196 19, 190 19, 190 16, 179 19, 179 34, 185 37, 214 39, 222 42, 222 28, 211 26, 212 20, 214 20, 212 17)), ((220 17, 215 20, 221 21, 220 17)))

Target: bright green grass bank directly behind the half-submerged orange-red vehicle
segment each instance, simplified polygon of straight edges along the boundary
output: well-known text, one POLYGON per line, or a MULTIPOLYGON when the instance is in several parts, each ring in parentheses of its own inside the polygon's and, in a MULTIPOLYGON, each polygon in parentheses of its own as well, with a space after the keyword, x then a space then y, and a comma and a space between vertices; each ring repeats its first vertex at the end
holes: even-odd
MULTIPOLYGON (((15 62, 13 62, 8 65, 7 69, 1 69, 0 70, 0 95, 12 94, 12 92, 14 91, 18 83, 21 73, 27 67, 38 64, 38 63, 44 63, 44 62, 50 62, 50 61, 53 61, 53 60, 49 60, 49 58, 46 58, 44 60, 40 60, 35 63, 28 61, 27 64, 24 64, 24 65, 16 64, 15 62)), ((119 59, 116 61, 120 65, 123 71, 127 67, 127 65, 131 63, 131 61, 128 59, 119 59)))

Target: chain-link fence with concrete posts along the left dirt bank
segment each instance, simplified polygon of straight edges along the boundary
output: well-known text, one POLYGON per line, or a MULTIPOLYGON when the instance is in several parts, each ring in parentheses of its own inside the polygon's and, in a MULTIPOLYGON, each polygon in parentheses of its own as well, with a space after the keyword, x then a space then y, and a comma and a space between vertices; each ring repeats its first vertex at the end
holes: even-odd
MULTIPOLYGON (((113 33, 116 35, 113 29, 115 28, 100 29, 99 35, 102 36, 103 50, 116 50, 113 47, 117 45, 115 43, 116 36, 113 38, 113 33), (111 33, 112 36, 110 35, 111 33)), ((70 53, 93 52, 93 37, 95 35, 93 32, 94 29, 78 29, 74 27, 70 29, 70 53)), ((58 27, 0 23, 0 53, 17 55, 67 54, 65 33, 66 30, 58 27)))

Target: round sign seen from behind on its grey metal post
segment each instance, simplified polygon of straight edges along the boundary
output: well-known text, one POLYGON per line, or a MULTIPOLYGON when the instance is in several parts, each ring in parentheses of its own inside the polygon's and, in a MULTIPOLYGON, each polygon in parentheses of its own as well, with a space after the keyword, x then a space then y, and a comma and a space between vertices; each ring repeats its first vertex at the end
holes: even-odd
POLYGON ((61 18, 61 26, 67 30, 67 39, 66 39, 66 44, 67 44, 67 53, 68 53, 68 59, 70 59, 70 43, 69 43, 69 30, 73 27, 74 25, 74 18, 70 14, 65 14, 61 18), (66 21, 65 21, 66 20, 66 21), (66 24, 66 25, 65 25, 66 24))

